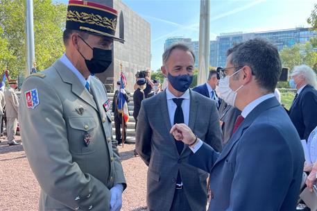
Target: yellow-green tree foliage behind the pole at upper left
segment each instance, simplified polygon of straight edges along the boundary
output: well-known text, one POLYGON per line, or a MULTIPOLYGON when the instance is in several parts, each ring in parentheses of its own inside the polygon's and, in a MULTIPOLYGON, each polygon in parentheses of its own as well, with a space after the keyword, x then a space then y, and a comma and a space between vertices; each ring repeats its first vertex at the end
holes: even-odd
MULTIPOLYGON (((0 72, 8 65, 10 76, 16 78, 26 67, 26 1, 0 0, 0 72), (2 41, 4 40, 4 41, 2 41), (3 48, 2 42, 6 48, 3 48)), ((62 31, 65 29, 67 6, 51 0, 34 0, 34 38, 37 69, 45 69, 62 55, 62 31)))

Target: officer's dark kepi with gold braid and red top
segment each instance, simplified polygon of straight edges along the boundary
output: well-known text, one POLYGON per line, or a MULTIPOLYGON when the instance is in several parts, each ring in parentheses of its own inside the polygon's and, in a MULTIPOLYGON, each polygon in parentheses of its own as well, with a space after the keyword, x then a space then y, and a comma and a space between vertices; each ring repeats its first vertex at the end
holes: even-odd
POLYGON ((94 35, 116 37, 117 10, 89 1, 69 1, 67 7, 66 28, 85 31, 94 35))

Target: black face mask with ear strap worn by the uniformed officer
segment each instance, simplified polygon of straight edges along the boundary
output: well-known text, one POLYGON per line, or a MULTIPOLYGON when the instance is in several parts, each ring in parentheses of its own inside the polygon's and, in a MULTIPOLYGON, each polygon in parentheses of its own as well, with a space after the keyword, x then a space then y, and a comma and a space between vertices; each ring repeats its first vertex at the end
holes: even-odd
MULTIPOLYGON (((78 37, 80 37, 78 35, 78 37)), ((82 37, 80 37, 81 40, 83 40, 82 37)), ((85 42, 85 40, 83 40, 85 42)), ((101 74, 103 73, 112 62, 112 51, 111 50, 104 50, 104 49, 98 49, 98 48, 92 48, 90 45, 85 42, 87 46, 92 49, 92 59, 87 60, 83 54, 80 53, 81 56, 85 59, 85 64, 90 71, 91 74, 101 74)))

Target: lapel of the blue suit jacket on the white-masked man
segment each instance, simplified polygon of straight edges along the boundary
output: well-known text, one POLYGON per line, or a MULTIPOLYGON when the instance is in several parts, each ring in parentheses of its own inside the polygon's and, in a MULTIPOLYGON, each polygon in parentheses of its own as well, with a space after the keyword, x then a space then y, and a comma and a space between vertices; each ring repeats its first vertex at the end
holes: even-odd
POLYGON ((232 150, 232 147, 240 140, 240 137, 243 135, 243 130, 246 130, 250 124, 265 110, 268 110, 269 108, 273 108, 275 106, 280 105, 280 103, 277 101, 275 97, 272 97, 270 99, 266 99, 259 105, 257 105, 250 114, 242 121, 237 131, 232 135, 230 140, 228 141, 228 144, 225 146, 223 151, 221 152, 219 158, 214 163, 214 168, 217 163, 219 163, 221 160, 223 160, 232 150))

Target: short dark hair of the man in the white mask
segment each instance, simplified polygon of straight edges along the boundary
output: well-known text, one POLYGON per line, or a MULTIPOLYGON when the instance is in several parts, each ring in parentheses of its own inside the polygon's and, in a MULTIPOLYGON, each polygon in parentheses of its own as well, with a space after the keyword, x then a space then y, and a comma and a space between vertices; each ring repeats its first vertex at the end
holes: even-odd
POLYGON ((261 38, 241 43, 233 51, 230 63, 235 67, 250 67, 252 74, 255 75, 257 85, 268 92, 274 92, 282 72, 277 48, 271 42, 261 38))

